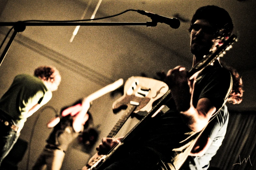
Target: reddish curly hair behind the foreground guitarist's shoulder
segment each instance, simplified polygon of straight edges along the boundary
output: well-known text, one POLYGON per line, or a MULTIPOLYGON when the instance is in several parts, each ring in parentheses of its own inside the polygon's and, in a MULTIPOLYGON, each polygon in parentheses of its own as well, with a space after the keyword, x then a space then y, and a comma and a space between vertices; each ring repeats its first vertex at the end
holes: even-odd
POLYGON ((225 66, 225 68, 230 71, 233 79, 232 91, 228 97, 227 102, 232 104, 239 104, 242 102, 244 92, 242 77, 240 77, 238 72, 232 67, 225 66))

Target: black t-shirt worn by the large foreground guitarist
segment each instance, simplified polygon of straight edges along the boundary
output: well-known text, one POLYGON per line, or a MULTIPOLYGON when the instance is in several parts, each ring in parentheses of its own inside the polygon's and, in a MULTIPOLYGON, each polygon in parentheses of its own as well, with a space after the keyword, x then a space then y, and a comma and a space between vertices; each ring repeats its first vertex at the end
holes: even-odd
MULTIPOLYGON (((196 80, 193 105, 201 98, 208 98, 216 107, 216 113, 225 104, 232 87, 232 77, 219 62, 206 67, 196 80)), ((182 95, 182 94, 181 94, 182 95)), ((142 146, 152 149, 171 169, 179 169, 192 149, 200 132, 188 128, 175 108, 162 115, 141 135, 142 146)), ((211 119, 216 116, 214 114, 211 119)))

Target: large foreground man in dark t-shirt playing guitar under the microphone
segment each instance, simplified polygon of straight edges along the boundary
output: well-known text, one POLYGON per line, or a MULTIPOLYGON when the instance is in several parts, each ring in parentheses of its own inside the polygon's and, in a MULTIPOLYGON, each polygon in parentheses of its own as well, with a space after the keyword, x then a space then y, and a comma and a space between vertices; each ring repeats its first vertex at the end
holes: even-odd
MULTIPOLYGON (((216 50, 216 45, 221 45, 221 39, 229 37, 232 29, 232 19, 223 8, 197 9, 189 29, 193 66, 209 50, 216 50)), ((172 94, 166 104, 170 110, 100 170, 157 170, 160 167, 178 170, 200 133, 225 104, 232 87, 230 72, 222 68, 218 60, 191 80, 187 78, 187 70, 178 66, 168 71, 166 82, 172 94), (171 107, 172 102, 176 108, 171 107)), ((98 154, 107 154, 118 141, 103 138, 97 147, 98 154)))

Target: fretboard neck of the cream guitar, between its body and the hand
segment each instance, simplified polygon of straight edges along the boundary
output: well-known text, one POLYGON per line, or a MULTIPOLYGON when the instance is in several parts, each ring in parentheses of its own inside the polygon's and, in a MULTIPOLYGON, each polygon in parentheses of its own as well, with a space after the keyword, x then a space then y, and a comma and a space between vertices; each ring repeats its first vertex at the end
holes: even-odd
POLYGON ((113 127, 113 129, 110 131, 110 133, 107 135, 108 138, 114 138, 115 135, 118 133, 118 131, 121 129, 123 124, 126 122, 128 117, 131 115, 131 113, 136 108, 135 105, 128 104, 127 108, 125 110, 121 110, 122 113, 121 118, 117 121, 116 125, 113 127))

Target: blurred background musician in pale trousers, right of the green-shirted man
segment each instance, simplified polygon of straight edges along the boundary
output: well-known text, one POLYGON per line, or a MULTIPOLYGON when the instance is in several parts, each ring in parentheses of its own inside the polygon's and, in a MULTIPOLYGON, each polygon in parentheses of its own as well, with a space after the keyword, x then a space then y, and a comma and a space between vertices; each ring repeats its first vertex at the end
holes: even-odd
POLYGON ((74 117, 80 113, 82 107, 82 100, 77 100, 71 106, 63 107, 60 114, 47 124, 47 127, 53 128, 53 130, 32 170, 42 170, 45 165, 46 169, 60 170, 69 144, 79 135, 80 131, 93 124, 92 116, 87 112, 81 124, 77 126, 80 129, 73 127, 74 117))

